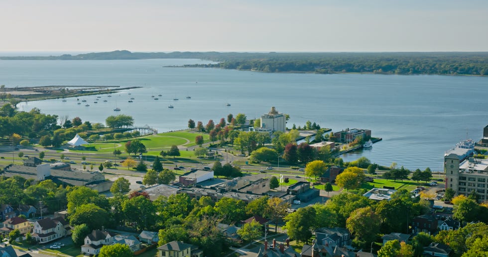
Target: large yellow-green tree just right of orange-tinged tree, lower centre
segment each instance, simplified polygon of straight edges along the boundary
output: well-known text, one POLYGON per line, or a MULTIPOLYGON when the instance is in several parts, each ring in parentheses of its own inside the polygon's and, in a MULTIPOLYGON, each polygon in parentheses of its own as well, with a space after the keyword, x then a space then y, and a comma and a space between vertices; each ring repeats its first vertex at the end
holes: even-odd
POLYGON ((284 229, 292 240, 308 242, 312 237, 311 228, 315 223, 315 209, 312 206, 299 208, 296 212, 285 217, 284 229))

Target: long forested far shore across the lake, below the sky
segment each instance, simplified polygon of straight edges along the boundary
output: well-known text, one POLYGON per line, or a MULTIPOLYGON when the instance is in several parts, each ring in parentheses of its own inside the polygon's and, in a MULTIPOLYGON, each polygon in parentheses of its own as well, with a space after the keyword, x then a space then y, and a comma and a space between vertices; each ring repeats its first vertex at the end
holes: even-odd
POLYGON ((211 67, 271 73, 378 73, 404 75, 488 75, 488 52, 391 53, 132 53, 126 50, 61 56, 0 57, 1 60, 201 59, 211 67))

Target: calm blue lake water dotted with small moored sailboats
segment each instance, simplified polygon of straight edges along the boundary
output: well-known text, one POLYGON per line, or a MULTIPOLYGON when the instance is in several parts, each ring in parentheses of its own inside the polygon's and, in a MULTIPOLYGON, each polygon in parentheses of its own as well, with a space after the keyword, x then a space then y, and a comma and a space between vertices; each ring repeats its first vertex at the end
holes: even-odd
POLYGON ((194 63, 208 61, 0 60, 0 84, 143 86, 110 98, 104 95, 98 103, 93 103, 96 96, 83 97, 89 107, 77 105, 75 98, 66 102, 26 102, 18 107, 25 111, 37 107, 44 113, 79 116, 91 122, 127 114, 134 117, 135 125, 147 124, 159 132, 185 129, 190 118, 204 124, 209 119, 218 122, 229 113, 258 118, 275 106, 290 115, 289 128, 293 123, 303 126, 310 120, 333 131, 370 129, 373 137, 382 137, 383 141, 343 158, 351 161, 366 156, 380 165, 396 162, 411 170, 430 167, 441 171, 444 152, 466 139, 467 132, 470 138, 479 140, 488 124, 488 78, 272 74, 163 67, 194 63), (132 103, 127 102, 130 97, 135 98, 132 103), (174 101, 175 97, 179 100, 174 101), (168 108, 170 104, 174 109, 168 108), (122 111, 113 111, 115 107, 122 111))

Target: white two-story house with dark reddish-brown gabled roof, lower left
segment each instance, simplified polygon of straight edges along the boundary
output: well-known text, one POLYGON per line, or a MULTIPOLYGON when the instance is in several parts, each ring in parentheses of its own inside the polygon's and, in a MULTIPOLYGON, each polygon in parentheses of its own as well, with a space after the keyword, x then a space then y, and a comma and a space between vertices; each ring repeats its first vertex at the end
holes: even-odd
POLYGON ((65 237, 71 232, 69 223, 63 218, 44 218, 34 223, 32 238, 39 244, 45 244, 65 237))

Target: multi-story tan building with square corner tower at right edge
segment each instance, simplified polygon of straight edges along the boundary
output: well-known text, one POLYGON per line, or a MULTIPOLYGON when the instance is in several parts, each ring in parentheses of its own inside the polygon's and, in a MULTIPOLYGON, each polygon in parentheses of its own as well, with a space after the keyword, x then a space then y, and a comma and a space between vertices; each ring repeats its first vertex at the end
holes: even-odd
POLYGON ((460 163, 457 155, 444 157, 446 188, 455 195, 468 195, 475 191, 481 201, 488 200, 488 160, 469 158, 460 163))

